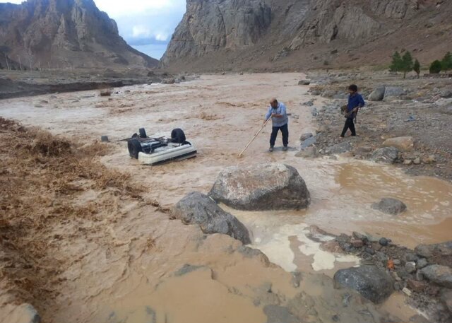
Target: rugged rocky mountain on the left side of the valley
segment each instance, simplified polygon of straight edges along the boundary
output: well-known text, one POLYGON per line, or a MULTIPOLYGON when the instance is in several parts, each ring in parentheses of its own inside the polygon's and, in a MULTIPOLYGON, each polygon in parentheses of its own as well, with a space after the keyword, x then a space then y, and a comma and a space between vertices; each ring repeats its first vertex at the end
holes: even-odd
POLYGON ((93 0, 0 4, 0 52, 32 68, 157 64, 127 45, 93 0))

